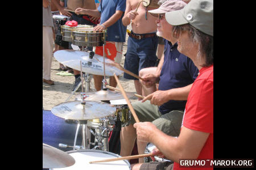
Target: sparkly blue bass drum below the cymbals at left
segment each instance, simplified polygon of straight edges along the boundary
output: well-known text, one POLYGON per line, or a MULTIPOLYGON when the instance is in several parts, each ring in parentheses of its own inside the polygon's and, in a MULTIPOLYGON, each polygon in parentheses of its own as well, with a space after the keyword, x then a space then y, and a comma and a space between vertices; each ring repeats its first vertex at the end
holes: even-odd
MULTIPOLYGON (((66 122, 64 118, 55 116, 51 111, 43 111, 43 143, 62 151, 71 151, 74 146, 76 129, 75 121, 66 122), (59 143, 72 147, 59 147, 59 143)), ((81 146, 81 142, 82 128, 80 126, 76 145, 81 146)))

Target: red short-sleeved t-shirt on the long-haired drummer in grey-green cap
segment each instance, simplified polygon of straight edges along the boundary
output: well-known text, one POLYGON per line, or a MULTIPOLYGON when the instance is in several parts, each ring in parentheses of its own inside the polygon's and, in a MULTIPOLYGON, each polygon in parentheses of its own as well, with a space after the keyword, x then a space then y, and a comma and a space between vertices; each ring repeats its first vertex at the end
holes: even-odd
MULTIPOLYGON (((203 67, 199 73, 189 92, 181 126, 210 133, 197 159, 213 159, 213 65, 203 67)), ((180 168, 179 163, 175 162, 174 170, 177 169, 194 168, 180 168)))

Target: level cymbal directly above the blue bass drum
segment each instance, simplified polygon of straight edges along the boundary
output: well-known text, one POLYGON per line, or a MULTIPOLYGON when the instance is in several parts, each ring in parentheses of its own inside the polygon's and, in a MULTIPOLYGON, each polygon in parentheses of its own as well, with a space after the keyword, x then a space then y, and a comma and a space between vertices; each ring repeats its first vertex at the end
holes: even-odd
POLYGON ((87 100, 85 104, 81 101, 68 101, 56 105, 51 112, 55 116, 70 120, 90 120, 110 116, 115 112, 115 108, 102 101, 87 100))

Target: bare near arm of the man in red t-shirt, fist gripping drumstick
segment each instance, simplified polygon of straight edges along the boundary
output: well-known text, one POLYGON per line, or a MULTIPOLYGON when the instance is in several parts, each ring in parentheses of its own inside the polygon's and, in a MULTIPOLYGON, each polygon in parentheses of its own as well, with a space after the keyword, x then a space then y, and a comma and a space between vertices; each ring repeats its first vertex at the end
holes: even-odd
POLYGON ((196 159, 204 147, 209 133, 182 127, 179 137, 171 137, 151 122, 134 124, 138 141, 151 142, 167 159, 179 163, 179 159, 196 159))

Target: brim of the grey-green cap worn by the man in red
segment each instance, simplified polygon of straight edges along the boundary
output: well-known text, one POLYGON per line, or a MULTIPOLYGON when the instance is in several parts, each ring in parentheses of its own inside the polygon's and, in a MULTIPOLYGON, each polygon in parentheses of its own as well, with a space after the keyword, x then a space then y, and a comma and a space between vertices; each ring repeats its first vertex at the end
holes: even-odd
POLYGON ((182 15, 183 9, 177 11, 166 12, 166 21, 171 25, 183 25, 188 21, 182 15))

